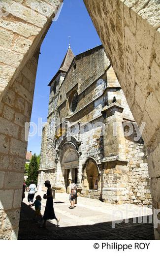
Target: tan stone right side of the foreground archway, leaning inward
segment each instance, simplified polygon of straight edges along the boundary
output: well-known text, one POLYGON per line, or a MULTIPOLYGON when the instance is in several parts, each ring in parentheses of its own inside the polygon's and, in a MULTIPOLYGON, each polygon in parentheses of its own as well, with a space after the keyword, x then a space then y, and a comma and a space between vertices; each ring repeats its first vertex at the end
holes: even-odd
MULTIPOLYGON (((84 0, 135 121, 145 122, 153 209, 160 209, 160 1, 84 0)), ((155 230, 160 239, 160 227, 155 230)))

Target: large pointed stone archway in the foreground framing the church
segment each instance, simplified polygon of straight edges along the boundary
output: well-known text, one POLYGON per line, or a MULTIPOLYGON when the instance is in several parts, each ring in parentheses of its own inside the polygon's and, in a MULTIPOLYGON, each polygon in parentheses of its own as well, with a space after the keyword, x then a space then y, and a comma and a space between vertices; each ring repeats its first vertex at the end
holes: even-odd
MULTIPOLYGON (((16 2, 17 1, 12 1, 16 2)), ((29 3, 30 1, 28 1, 29 3)), ((50 4, 49 0, 45 0, 50 4)), ((56 8, 62 0, 55 0, 56 8)), ((148 147, 153 209, 160 205, 160 21, 159 0, 84 0, 136 122, 148 147), (154 17, 154 18, 153 18, 154 17)), ((17 17, 0 29, 0 221, 2 239, 16 239, 27 142, 39 47, 51 25, 50 17, 23 3, 21 29, 17 17), (18 27, 19 28, 19 27, 18 27), (13 43, 13 44, 12 44, 13 43), (23 47, 21 47, 21 45, 23 47), (32 73, 32 76, 30 74, 32 73), (5 200, 4 200, 5 198, 5 200), (7 200, 6 200, 7 199, 7 200), (12 213, 11 213, 12 212, 12 213), (10 224, 5 223, 7 218, 10 224), (14 216, 14 218, 12 218, 14 216), (15 218, 16 216, 16 218, 15 218), (14 219, 14 221, 13 221, 14 219), (7 229, 5 226, 7 225, 7 229)), ((17 14, 18 15, 18 14, 17 14)), ((157 229, 156 238, 160 239, 157 229)))

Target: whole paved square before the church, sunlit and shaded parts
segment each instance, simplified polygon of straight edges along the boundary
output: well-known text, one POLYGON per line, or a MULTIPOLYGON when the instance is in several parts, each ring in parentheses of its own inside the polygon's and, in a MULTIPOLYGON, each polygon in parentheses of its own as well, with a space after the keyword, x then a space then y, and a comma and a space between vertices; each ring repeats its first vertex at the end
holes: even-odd
MULTIPOLYGON (((42 193, 37 192, 36 194, 42 193)), ((138 205, 111 205, 95 199, 78 197, 76 208, 69 209, 68 194, 57 193, 54 199, 56 216, 61 218, 60 227, 56 221, 47 221, 41 228, 33 221, 34 207, 28 207, 27 195, 21 209, 19 240, 153 240, 152 210, 138 205), (145 216, 144 221, 141 216, 145 216), (136 223, 133 223, 133 217, 136 223), (120 221, 124 219, 124 221, 120 221), (128 223, 125 223, 128 219, 128 223), (118 221, 119 220, 119 221, 118 221), (150 221, 149 221, 150 220, 150 221), (112 228, 114 221, 115 228, 112 228), (138 223, 139 222, 139 223, 138 223), (146 223, 144 223, 146 222, 146 223)), ((42 214, 46 201, 42 200, 42 214)))

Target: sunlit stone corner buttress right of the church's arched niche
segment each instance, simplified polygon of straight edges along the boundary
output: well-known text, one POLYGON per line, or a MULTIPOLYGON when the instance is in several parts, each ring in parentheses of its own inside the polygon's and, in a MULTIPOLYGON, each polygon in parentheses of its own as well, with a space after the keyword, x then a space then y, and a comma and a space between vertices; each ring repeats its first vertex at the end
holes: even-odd
POLYGON ((102 110, 105 124, 102 196, 106 202, 127 200, 128 184, 126 145, 122 129, 123 108, 117 102, 102 110))

